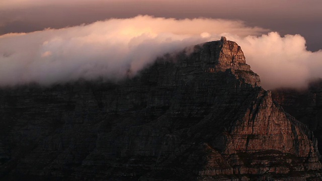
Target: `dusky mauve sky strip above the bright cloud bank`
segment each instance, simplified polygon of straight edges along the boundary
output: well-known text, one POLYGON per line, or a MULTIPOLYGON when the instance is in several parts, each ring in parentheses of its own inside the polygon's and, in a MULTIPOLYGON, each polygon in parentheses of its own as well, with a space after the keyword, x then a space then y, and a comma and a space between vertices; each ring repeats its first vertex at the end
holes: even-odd
POLYGON ((310 50, 322 48, 320 0, 0 0, 0 35, 137 15, 238 19, 281 35, 301 34, 310 50))

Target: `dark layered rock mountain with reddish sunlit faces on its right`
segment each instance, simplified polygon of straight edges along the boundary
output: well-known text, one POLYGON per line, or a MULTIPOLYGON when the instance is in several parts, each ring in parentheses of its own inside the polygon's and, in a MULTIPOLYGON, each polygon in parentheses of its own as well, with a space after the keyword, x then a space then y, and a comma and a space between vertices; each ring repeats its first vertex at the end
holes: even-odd
POLYGON ((120 82, 0 89, 1 180, 320 180, 307 126, 224 37, 120 82))

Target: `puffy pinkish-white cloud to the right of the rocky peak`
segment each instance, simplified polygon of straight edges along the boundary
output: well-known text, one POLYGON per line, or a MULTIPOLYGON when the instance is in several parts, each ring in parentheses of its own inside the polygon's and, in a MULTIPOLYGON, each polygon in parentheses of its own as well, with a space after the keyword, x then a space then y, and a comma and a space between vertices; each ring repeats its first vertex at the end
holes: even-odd
MULTIPOLYGON (((229 36, 229 35, 228 35, 229 36)), ((261 77, 263 87, 305 88, 309 80, 322 77, 322 50, 306 50, 301 35, 267 35, 229 37, 243 49, 246 61, 261 77)))

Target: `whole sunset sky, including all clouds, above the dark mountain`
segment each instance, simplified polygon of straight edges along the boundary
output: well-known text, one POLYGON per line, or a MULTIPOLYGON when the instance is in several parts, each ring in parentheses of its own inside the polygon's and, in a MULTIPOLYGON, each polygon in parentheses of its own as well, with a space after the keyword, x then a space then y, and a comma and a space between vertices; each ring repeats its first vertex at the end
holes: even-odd
POLYGON ((320 17, 320 0, 1 0, 0 85, 118 79, 224 35, 264 88, 303 87, 322 77, 320 17))

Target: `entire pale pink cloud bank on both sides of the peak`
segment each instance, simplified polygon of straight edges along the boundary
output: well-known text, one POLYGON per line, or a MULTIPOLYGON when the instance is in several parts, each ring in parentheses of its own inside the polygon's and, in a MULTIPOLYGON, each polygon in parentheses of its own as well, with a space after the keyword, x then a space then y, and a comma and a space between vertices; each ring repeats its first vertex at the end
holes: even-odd
POLYGON ((0 36, 0 85, 49 85, 79 78, 121 79, 157 56, 224 35, 243 49, 264 88, 300 87, 322 77, 322 51, 306 50, 300 35, 248 27, 221 19, 166 19, 137 16, 63 29, 0 36), (263 35, 264 34, 264 35, 263 35))

